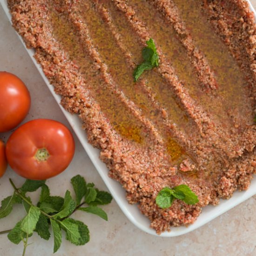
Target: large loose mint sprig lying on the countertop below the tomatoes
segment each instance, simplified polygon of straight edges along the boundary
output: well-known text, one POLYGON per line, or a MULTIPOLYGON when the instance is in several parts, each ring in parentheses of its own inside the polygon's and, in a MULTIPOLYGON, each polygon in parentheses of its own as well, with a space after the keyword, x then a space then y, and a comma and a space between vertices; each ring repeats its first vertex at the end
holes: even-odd
POLYGON ((108 204, 112 201, 112 196, 106 191, 94 188, 93 183, 86 183, 81 175, 76 175, 71 179, 74 188, 75 198, 71 196, 69 190, 66 191, 64 198, 61 196, 51 196, 50 189, 45 181, 26 180, 20 187, 13 186, 13 195, 3 199, 0 207, 0 218, 8 216, 15 204, 22 203, 27 215, 21 219, 11 230, 1 231, 0 234, 8 233, 8 239, 19 244, 24 243, 23 255, 27 248, 27 240, 37 232, 38 235, 48 240, 51 236, 49 227, 52 227, 54 235, 54 252, 61 246, 61 229, 66 233, 66 239, 75 244, 83 245, 89 242, 90 235, 87 225, 83 222, 74 220, 70 216, 76 211, 81 210, 108 220, 107 213, 97 207, 97 205, 108 204), (34 192, 41 188, 39 202, 34 205, 27 192, 34 192), (82 207, 87 205, 87 207, 82 207))

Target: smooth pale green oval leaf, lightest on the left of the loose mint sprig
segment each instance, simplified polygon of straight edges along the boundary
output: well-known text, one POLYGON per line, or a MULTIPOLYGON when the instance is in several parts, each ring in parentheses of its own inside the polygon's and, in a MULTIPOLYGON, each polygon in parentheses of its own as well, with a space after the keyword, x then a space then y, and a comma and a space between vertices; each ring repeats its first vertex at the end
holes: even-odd
POLYGON ((40 209, 35 206, 31 206, 27 216, 21 221, 21 230, 27 234, 33 233, 36 223, 38 222, 40 216, 40 209))

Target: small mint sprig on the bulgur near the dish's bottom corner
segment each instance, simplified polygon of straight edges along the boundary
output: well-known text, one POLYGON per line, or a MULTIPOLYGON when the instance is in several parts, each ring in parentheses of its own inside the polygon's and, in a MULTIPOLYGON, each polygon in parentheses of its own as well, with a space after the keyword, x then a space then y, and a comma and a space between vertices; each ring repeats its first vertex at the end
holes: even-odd
POLYGON ((161 189, 155 198, 155 202, 160 208, 167 209, 175 199, 180 199, 187 204, 196 204, 199 202, 197 195, 185 184, 174 187, 173 189, 168 187, 161 189))

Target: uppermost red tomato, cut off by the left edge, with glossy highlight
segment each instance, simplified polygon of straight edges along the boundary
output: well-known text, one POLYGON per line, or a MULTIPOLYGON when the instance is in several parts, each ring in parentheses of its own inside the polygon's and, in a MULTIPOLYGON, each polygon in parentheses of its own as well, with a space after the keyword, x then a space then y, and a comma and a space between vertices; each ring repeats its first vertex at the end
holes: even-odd
POLYGON ((29 91, 20 78, 0 72, 0 132, 7 132, 23 121, 30 101, 29 91))

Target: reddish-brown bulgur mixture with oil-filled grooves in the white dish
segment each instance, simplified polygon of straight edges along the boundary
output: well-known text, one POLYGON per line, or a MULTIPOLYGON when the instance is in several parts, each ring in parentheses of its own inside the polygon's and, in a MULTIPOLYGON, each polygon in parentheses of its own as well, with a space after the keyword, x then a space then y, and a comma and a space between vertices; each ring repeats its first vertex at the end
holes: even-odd
POLYGON ((256 25, 246 0, 8 0, 61 104, 158 234, 256 173, 256 25), (141 50, 160 65, 138 82, 141 50), (199 202, 160 209, 164 187, 199 202))

